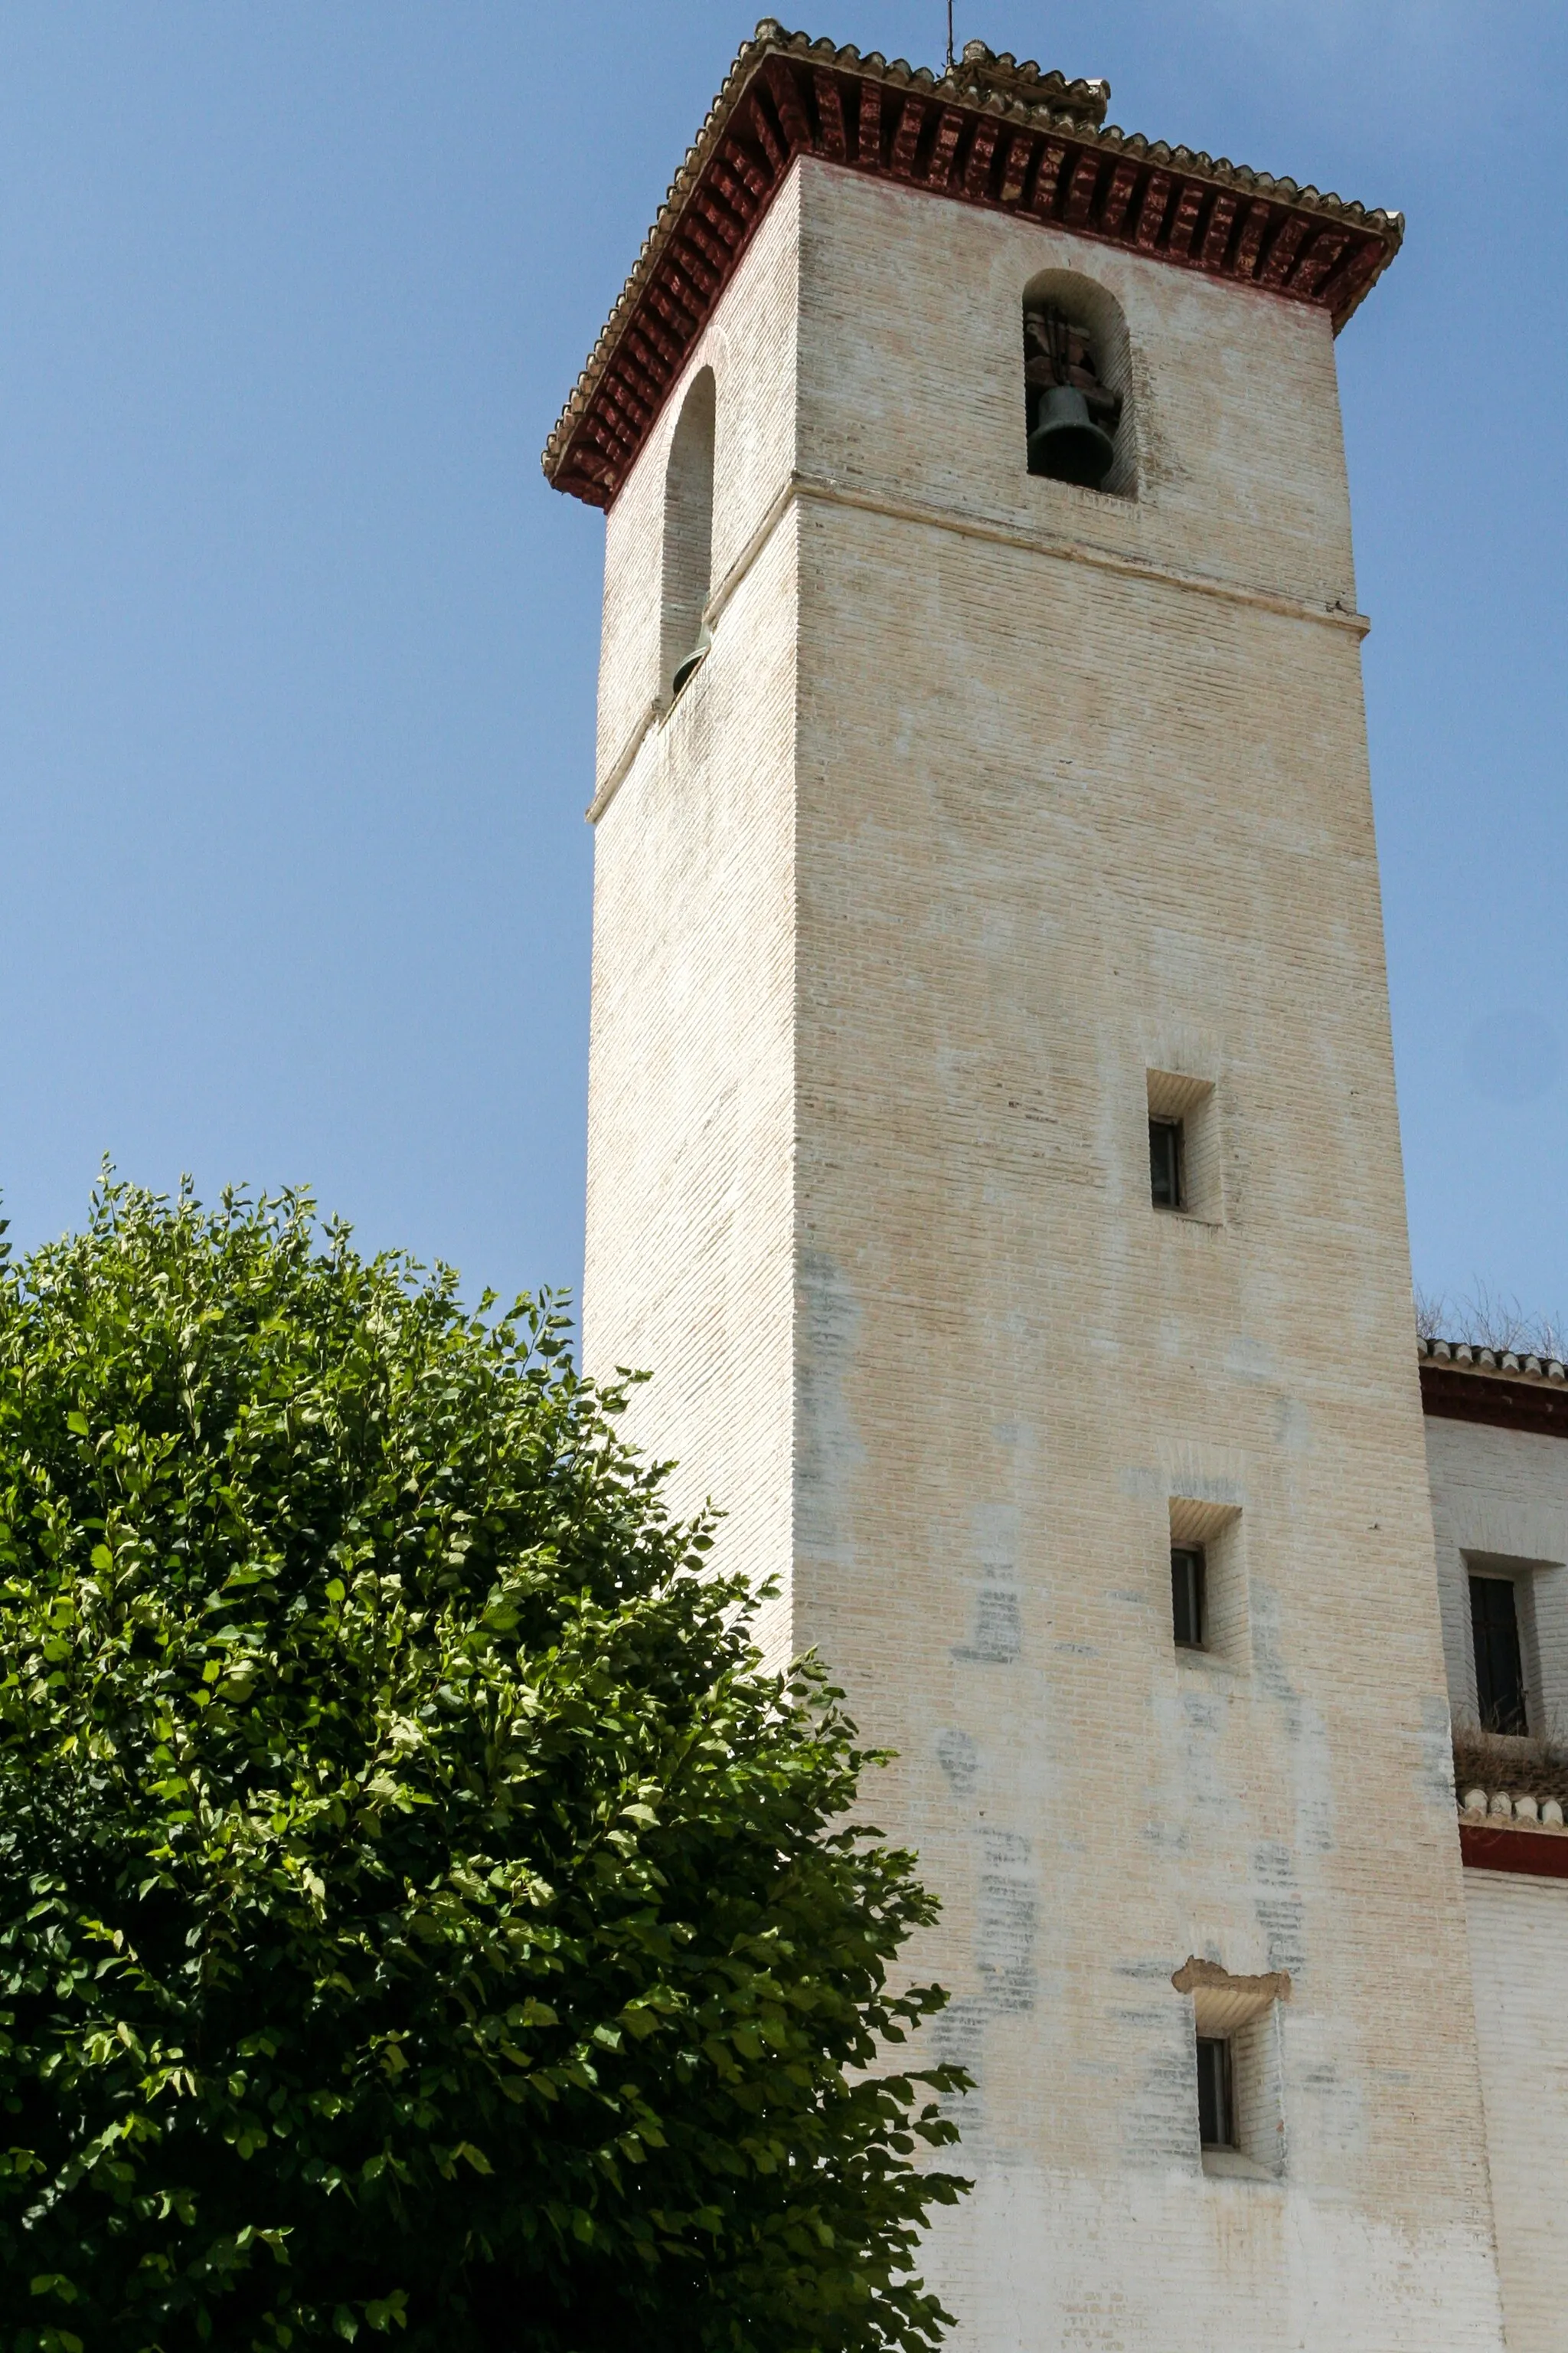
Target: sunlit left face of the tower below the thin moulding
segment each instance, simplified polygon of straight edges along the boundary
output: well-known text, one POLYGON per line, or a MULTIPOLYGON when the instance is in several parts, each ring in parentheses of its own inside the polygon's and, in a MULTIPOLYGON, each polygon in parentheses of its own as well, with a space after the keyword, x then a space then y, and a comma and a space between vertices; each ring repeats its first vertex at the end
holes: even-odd
POLYGON ((795 532, 778 532, 595 838, 583 1362, 724 1560, 783 1579, 795 1115, 795 532))

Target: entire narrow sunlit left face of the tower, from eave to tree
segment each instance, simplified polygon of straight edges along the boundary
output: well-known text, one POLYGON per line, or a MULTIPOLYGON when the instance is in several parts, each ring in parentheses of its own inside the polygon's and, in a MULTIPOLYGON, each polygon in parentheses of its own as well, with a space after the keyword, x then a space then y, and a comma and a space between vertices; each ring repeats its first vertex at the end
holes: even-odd
POLYGON ((670 1501, 729 1513, 780 1579, 788 1649, 795 1115, 795 520, 672 708, 656 706, 663 480, 684 384, 717 381, 712 579, 795 447, 797 200, 785 188, 609 515, 595 833, 583 1360, 651 1369, 625 1431, 670 1501))

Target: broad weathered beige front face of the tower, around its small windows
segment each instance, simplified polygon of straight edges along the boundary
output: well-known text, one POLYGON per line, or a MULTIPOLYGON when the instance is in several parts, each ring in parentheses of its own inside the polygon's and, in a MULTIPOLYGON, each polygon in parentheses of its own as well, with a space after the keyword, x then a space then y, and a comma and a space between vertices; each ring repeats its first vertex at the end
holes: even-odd
POLYGON ((1356 638, 973 527, 1349 602, 1333 351, 1077 242, 1157 494, 1032 482, 1074 242, 802 184, 795 1640, 945 1901, 957 2346, 1497 2346, 1356 638), (1171 1497, 1239 1511, 1234 1666, 1171 1497), (1190 1953, 1293 1977, 1279 2188, 1201 2172, 1190 1953))

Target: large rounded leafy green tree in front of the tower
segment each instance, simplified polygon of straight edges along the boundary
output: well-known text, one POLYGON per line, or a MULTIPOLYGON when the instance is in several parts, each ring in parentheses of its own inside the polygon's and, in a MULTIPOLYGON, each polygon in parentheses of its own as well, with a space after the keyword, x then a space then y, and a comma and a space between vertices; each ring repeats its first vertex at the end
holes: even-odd
POLYGON ((0 2344, 924 2348, 867 1753, 550 1297, 103 1184, 0 1264, 0 2344))

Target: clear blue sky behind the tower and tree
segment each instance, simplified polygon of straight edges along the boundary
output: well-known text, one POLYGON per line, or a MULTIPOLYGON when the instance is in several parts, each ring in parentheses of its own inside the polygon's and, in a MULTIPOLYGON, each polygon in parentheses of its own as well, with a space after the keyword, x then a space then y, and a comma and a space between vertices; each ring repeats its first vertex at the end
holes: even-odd
MULTIPOLYGON (((750 16, 0 0, 0 1188, 581 1261, 602 522, 538 447, 750 16)), ((933 64, 940 5, 811 33, 933 64)), ((1418 1280, 1568 1308, 1552 0, 959 5, 1399 205, 1340 341, 1418 1280)))

